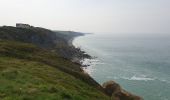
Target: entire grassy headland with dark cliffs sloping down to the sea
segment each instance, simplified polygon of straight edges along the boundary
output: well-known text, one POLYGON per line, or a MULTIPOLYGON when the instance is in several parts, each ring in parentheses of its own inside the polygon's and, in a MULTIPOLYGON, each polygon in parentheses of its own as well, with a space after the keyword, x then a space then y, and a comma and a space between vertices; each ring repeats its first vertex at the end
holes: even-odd
POLYGON ((90 57, 69 44, 79 35, 83 34, 0 27, 0 99, 140 100, 131 99, 135 96, 124 94, 119 85, 116 90, 115 84, 102 87, 71 62, 73 57, 90 57))

